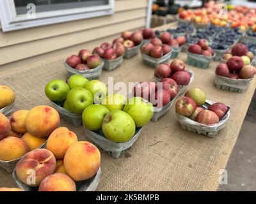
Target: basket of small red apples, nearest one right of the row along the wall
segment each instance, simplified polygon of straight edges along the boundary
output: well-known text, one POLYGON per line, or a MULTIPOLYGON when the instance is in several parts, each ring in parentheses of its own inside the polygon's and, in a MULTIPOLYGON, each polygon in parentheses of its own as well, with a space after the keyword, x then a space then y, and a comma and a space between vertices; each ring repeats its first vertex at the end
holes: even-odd
POLYGON ((164 45, 159 38, 154 38, 141 47, 141 57, 144 64, 156 68, 159 64, 168 62, 172 55, 172 48, 164 45))

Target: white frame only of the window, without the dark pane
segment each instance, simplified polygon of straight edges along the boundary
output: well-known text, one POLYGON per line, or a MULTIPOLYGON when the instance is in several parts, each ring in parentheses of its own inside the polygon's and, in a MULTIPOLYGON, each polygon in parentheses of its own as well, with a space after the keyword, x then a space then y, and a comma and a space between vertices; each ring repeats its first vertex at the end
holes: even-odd
POLYGON ((28 18, 26 14, 17 15, 14 0, 0 0, 0 20, 3 32, 113 15, 114 13, 115 0, 109 0, 109 4, 104 6, 45 11, 36 13, 36 18, 28 18))

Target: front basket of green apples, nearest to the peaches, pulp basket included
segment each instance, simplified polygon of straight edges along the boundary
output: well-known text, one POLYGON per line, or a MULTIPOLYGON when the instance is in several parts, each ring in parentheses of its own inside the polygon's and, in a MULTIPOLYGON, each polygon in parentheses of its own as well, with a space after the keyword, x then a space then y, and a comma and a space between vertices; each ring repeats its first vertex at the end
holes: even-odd
POLYGON ((153 106, 145 99, 113 94, 84 110, 83 125, 88 139, 117 159, 138 140, 152 115, 153 106))

